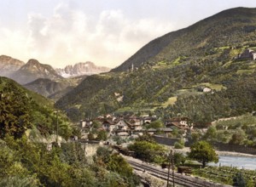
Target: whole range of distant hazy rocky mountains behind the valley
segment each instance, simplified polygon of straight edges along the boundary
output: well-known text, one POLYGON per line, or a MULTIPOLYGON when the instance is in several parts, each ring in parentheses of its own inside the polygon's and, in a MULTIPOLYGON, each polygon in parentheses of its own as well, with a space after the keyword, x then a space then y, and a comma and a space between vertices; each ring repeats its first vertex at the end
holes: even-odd
POLYGON ((0 76, 9 77, 24 87, 51 99, 59 99, 78 85, 84 77, 109 71, 107 67, 96 66, 92 62, 67 65, 64 69, 54 69, 37 59, 27 63, 12 57, 0 56, 0 76), (67 78, 69 77, 69 78, 67 78))

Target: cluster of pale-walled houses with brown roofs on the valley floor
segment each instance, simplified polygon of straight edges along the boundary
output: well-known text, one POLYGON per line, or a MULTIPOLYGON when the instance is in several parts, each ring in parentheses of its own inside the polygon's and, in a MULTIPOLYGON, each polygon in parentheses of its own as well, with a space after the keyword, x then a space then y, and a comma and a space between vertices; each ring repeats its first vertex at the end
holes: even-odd
POLYGON ((183 130, 184 134, 188 130, 193 128, 193 124, 190 122, 188 117, 176 117, 166 120, 164 123, 165 127, 160 128, 148 128, 147 126, 157 120, 156 116, 102 116, 97 117, 94 120, 81 120, 80 129, 82 133, 88 133, 92 128, 93 122, 100 124, 102 130, 108 132, 109 135, 119 135, 119 136, 131 136, 132 134, 141 133, 172 133, 174 128, 183 130))

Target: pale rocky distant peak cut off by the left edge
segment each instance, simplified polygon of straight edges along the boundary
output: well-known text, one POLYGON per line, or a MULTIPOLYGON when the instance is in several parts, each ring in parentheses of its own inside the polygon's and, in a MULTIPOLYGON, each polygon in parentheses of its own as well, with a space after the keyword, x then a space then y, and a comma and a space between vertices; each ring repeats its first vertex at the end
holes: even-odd
POLYGON ((19 70, 24 62, 19 59, 13 59, 6 55, 0 56, 0 76, 9 77, 12 73, 19 70))

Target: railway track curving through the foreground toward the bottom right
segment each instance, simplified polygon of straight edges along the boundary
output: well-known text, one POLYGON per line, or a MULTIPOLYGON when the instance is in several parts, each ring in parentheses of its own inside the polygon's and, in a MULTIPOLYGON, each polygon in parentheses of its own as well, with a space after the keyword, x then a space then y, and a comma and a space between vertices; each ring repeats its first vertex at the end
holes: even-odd
MULTIPOLYGON (((164 180, 167 180, 168 178, 168 172, 165 169, 154 167, 151 165, 148 165, 146 163, 138 163, 137 161, 131 161, 127 159, 127 161, 131 164, 131 167, 133 167, 136 170, 147 172, 148 174, 151 174, 157 178, 161 178, 164 180)), ((170 184, 172 184, 172 175, 170 174, 169 178, 170 184)), ((194 178, 191 176, 182 175, 179 173, 174 173, 174 182, 175 184, 179 184, 182 186, 187 187, 226 187, 229 185, 224 184, 215 184, 207 180, 203 180, 201 178, 194 178)))

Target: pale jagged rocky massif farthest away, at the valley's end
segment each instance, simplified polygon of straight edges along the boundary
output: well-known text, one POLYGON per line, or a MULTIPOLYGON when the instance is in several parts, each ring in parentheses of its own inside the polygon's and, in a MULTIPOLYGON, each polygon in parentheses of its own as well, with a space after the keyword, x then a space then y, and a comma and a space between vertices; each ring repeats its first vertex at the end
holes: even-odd
POLYGON ((110 68, 97 66, 93 62, 80 62, 75 65, 67 65, 64 69, 56 69, 62 77, 79 77, 110 71, 110 68))

